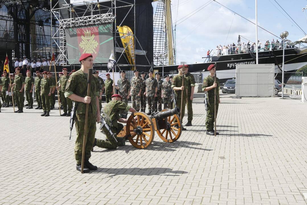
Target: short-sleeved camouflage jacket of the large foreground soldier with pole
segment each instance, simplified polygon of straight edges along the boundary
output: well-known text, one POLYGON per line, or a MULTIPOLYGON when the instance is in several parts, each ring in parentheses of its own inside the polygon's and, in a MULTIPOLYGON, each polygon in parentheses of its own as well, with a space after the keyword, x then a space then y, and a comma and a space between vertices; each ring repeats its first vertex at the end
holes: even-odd
MULTIPOLYGON (((81 69, 77 70, 76 72, 72 73, 69 76, 69 79, 66 84, 65 88, 65 97, 70 96, 71 94, 76 94, 80 97, 85 97, 87 95, 87 73, 84 73, 81 69)), ((90 74, 92 75, 92 74, 90 74)), ((99 97, 99 88, 97 86, 98 80, 96 77, 91 77, 91 103, 89 104, 88 109, 88 116, 93 116, 97 114, 97 107, 96 107, 96 97, 99 97)), ((77 114, 85 114, 86 104, 83 102, 77 102, 78 108, 76 113, 77 114)))

